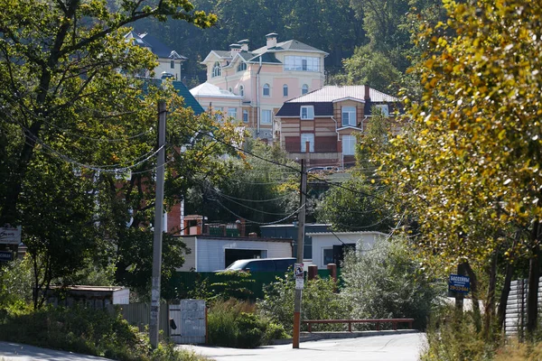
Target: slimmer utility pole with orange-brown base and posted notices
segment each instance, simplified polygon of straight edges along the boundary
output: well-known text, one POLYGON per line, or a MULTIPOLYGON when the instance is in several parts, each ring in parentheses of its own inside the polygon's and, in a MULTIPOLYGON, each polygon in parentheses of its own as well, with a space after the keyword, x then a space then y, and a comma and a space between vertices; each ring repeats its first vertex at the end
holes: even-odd
MULTIPOLYGON (((307 197, 307 170, 304 160, 301 160, 301 197, 299 206, 299 216, 297 225, 297 263, 303 264, 303 248, 304 248, 304 220, 306 211, 306 197, 307 197)), ((303 281, 303 279, 302 279, 303 281)), ((299 348, 299 335, 301 331, 301 299, 303 295, 303 288, 295 286, 295 300, 294 300, 294 337, 292 339, 292 346, 299 348)))

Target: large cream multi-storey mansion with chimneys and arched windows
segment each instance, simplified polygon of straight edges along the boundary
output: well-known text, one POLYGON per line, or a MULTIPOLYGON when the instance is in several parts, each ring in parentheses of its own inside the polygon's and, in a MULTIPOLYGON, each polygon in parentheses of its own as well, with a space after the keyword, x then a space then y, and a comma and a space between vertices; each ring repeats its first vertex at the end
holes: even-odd
POLYGON ((283 103, 322 88, 328 55, 303 42, 277 38, 275 32, 267 34, 266 46, 254 51, 249 51, 248 40, 229 45, 229 51, 210 51, 201 61, 207 67, 206 85, 192 89, 203 106, 217 106, 268 143, 273 142, 273 119, 283 103))

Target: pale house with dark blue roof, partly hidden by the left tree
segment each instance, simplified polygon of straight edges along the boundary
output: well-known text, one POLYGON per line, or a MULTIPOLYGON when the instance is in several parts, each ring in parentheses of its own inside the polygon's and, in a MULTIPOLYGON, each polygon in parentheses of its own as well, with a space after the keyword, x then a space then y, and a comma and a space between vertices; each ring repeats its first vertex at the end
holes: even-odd
MULTIPOLYGON (((126 41, 134 42, 136 45, 153 51, 157 57, 158 66, 154 68, 154 79, 173 78, 181 80, 182 62, 188 58, 180 55, 177 51, 170 49, 158 39, 146 32, 128 32, 125 35, 126 41)), ((148 76, 148 74, 145 74, 148 76)))

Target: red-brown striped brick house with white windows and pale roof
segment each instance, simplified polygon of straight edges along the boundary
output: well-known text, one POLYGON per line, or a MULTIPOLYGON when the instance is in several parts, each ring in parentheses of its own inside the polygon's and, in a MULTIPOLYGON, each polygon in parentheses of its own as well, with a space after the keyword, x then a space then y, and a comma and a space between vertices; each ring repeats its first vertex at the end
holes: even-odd
POLYGON ((369 86, 326 86, 286 101, 276 113, 276 136, 290 159, 344 168, 355 162, 355 134, 367 127, 373 106, 391 117, 399 99, 369 86))

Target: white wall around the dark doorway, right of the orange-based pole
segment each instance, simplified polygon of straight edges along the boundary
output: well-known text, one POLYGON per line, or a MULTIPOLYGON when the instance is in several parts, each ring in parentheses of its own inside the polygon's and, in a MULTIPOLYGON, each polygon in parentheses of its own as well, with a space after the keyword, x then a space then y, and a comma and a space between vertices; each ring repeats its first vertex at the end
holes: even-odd
POLYGON ((369 251, 375 244, 378 237, 384 239, 387 235, 380 232, 331 232, 325 233, 307 233, 313 237, 313 264, 318 266, 319 270, 325 270, 326 264, 323 264, 323 250, 333 248, 333 245, 356 244, 356 249, 361 252, 369 251), (335 236, 336 235, 336 236, 335 236), (341 238, 341 241, 337 239, 341 238))

